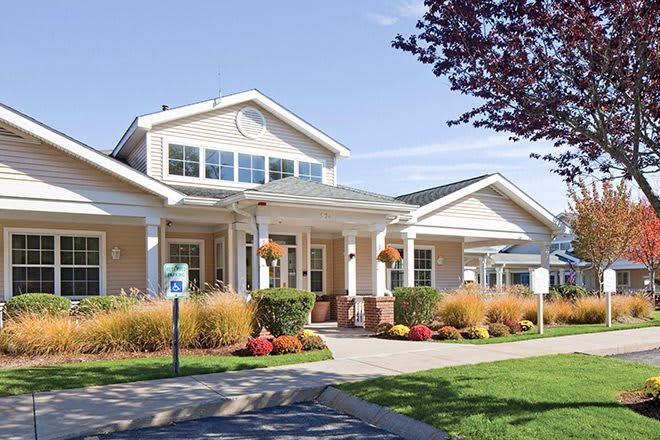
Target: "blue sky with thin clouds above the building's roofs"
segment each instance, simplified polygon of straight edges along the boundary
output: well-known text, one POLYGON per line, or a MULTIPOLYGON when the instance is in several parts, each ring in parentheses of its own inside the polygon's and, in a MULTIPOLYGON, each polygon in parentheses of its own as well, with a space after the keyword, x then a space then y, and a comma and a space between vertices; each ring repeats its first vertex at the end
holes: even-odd
POLYGON ((476 101, 391 48, 421 1, 5 0, 0 102, 99 149, 133 117, 258 88, 352 150, 340 183, 397 195, 501 172, 553 212, 547 144, 448 119, 476 101))

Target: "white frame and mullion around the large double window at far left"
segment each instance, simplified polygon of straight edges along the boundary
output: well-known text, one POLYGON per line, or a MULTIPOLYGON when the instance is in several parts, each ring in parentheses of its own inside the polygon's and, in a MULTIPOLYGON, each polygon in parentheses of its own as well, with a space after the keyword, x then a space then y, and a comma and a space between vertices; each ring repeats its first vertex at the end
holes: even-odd
MULTIPOLYGON (((74 229, 44 229, 44 228, 18 228, 18 227, 5 227, 3 228, 3 240, 4 240, 4 273, 5 273, 5 282, 4 282, 4 293, 5 298, 9 300, 13 296, 11 289, 11 234, 43 234, 43 235, 53 235, 55 236, 55 263, 54 263, 54 279, 55 283, 55 295, 61 296, 61 280, 60 280, 60 240, 58 239, 61 236, 78 236, 78 237, 98 237, 99 238, 99 294, 91 296, 106 296, 107 295, 107 264, 106 264, 106 233, 105 231, 83 231, 83 230, 74 230, 74 229)), ((72 300, 87 298, 85 295, 73 295, 65 296, 72 300)))

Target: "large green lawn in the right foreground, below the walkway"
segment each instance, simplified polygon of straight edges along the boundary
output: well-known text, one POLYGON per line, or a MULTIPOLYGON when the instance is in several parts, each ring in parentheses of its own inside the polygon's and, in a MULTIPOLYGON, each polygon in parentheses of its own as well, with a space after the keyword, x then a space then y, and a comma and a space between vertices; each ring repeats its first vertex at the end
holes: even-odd
POLYGON ((555 355, 342 385, 452 435, 480 439, 658 439, 660 422, 620 405, 660 367, 555 355))

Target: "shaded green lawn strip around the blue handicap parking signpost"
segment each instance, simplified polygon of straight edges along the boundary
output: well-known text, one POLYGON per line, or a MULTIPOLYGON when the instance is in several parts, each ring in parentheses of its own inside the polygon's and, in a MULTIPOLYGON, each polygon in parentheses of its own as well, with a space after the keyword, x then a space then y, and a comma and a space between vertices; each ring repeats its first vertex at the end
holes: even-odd
MULTIPOLYGON (((329 350, 267 357, 182 356, 180 375, 274 367, 325 359, 332 359, 329 350)), ((167 377, 173 377, 170 357, 8 368, 0 369, 0 397, 167 377)))

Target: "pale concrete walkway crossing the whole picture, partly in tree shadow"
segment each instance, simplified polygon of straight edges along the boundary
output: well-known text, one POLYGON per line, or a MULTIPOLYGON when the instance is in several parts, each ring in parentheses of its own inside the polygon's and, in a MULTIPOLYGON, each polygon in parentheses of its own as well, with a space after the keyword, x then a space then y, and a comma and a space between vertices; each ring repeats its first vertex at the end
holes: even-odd
MULTIPOLYGON (((199 408, 205 406, 222 406, 225 413, 236 413, 285 403, 282 392, 302 390, 304 396, 305 390, 313 390, 313 395, 330 384, 430 368, 546 354, 609 355, 660 347, 658 327, 478 346, 374 339, 362 330, 316 330, 326 339, 335 359, 2 398, 0 438, 65 439, 104 427, 157 426, 198 417, 199 408), (260 396, 255 399, 255 395, 260 396)), ((304 399, 297 395, 296 400, 304 399)))

